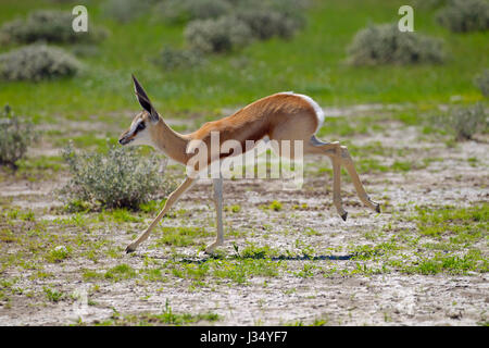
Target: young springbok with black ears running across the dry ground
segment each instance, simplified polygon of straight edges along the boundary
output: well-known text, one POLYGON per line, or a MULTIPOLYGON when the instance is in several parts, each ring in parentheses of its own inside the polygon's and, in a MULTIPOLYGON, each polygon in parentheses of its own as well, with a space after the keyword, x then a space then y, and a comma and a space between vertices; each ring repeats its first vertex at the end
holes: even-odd
MULTIPOLYGON (((244 145, 247 140, 258 141, 266 137, 276 141, 300 140, 303 144, 304 154, 321 153, 331 160, 333 202, 344 221, 348 213, 341 202, 341 166, 344 166, 350 174, 360 200, 366 207, 380 212, 380 206, 372 201, 365 192, 347 147, 341 146, 338 141, 323 142, 316 138, 315 133, 324 121, 324 112, 310 97, 293 92, 275 94, 254 101, 230 116, 205 123, 198 130, 183 135, 173 130, 164 122, 134 75, 133 82, 137 100, 143 110, 134 117, 129 128, 121 135, 118 140, 121 145, 149 145, 173 160, 188 165, 192 158, 192 151, 189 150, 191 145, 196 141, 203 141, 210 148, 211 133, 213 132, 217 132, 223 141, 233 139, 241 145, 244 145)), ((223 157, 226 157, 226 154, 215 156, 215 153, 211 153, 208 157, 206 164, 210 165, 214 160, 223 157)), ((201 169, 196 167, 196 170, 201 169)), ((148 238, 154 226, 178 198, 192 186, 195 181, 195 176, 187 175, 186 179, 170 194, 162 211, 148 228, 127 246, 126 252, 135 251, 148 238)), ((212 253, 224 241, 222 176, 213 178, 213 187, 217 237, 213 244, 206 247, 206 253, 212 253)))

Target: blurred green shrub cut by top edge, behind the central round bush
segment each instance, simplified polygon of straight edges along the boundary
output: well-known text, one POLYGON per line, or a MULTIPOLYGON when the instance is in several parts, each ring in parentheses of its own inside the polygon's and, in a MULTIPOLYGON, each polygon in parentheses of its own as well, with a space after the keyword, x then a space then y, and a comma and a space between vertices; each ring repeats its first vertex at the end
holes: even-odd
POLYGON ((226 0, 166 0, 154 10, 168 23, 186 23, 193 20, 216 18, 233 10, 226 0))

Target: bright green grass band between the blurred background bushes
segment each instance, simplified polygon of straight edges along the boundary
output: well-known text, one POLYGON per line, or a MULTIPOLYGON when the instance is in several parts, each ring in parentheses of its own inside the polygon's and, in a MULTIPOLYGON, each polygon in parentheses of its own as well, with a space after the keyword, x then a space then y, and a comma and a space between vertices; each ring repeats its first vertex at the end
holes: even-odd
MULTIPOLYGON (((164 45, 184 45, 183 26, 142 17, 120 25, 90 4, 90 21, 110 29, 99 53, 82 58, 89 69, 79 77, 41 83, 0 83, 0 100, 39 117, 79 117, 96 113, 117 119, 117 111, 137 110, 130 86, 136 73, 156 109, 167 112, 213 113, 242 105, 281 90, 311 95, 322 104, 364 102, 448 102, 481 99, 473 78, 489 63, 487 33, 453 35, 437 25, 432 11, 415 12, 416 30, 441 37, 451 59, 443 65, 354 67, 344 64, 354 34, 368 23, 394 22, 402 1, 313 1, 308 26, 290 40, 255 42, 242 51, 210 57, 202 67, 163 72, 150 62, 164 45)), ((3 1, 2 22, 51 2, 3 1)), ((7 51, 9 48, 2 48, 7 51)), ((347 132, 348 134, 348 132, 347 132)))

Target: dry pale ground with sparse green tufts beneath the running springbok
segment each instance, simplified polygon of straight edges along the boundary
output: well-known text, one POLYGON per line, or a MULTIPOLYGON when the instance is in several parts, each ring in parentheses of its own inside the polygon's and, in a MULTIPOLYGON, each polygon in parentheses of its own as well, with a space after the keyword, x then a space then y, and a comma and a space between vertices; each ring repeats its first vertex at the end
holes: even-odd
MULTIPOLYGON (((344 122, 379 112, 349 110, 338 111, 344 122)), ((4 175, 0 324, 487 324, 488 144, 448 147, 397 121, 343 138, 381 214, 343 175, 343 222, 329 161, 314 157, 298 191, 226 181, 226 240, 213 258, 202 251, 214 238, 209 182, 125 254, 155 212, 67 214, 52 194, 66 173, 4 175)))

